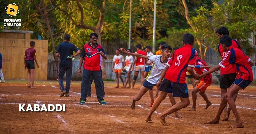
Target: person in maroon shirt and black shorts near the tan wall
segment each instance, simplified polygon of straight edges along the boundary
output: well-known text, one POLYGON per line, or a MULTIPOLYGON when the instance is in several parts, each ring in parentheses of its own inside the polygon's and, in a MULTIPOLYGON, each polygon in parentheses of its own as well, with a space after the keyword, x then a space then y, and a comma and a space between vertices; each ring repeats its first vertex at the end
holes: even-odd
POLYGON ((28 68, 28 87, 29 88, 36 88, 34 87, 35 62, 36 62, 37 68, 39 68, 39 65, 36 61, 36 49, 34 48, 35 48, 35 41, 30 41, 30 48, 26 49, 25 55, 24 55, 24 66, 25 66, 25 69, 28 68))

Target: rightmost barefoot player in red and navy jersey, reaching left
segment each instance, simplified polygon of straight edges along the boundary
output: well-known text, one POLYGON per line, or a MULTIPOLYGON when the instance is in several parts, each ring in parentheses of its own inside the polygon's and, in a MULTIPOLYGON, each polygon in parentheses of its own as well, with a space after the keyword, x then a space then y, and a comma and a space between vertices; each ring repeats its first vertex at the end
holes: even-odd
POLYGON ((229 107, 233 111, 236 117, 236 123, 234 125, 228 126, 229 128, 242 128, 244 127, 239 114, 236 109, 235 101, 232 99, 232 96, 237 93, 239 90, 246 88, 253 80, 253 73, 251 66, 253 65, 251 59, 246 56, 240 49, 232 46, 232 39, 228 35, 225 35, 220 38, 220 43, 223 51, 227 52, 227 54, 223 57, 222 61, 212 69, 207 72, 204 72, 202 75, 199 75, 201 78, 207 74, 218 71, 220 67, 226 68, 230 64, 233 69, 236 70, 236 80, 229 87, 227 93, 225 93, 223 99, 221 100, 219 110, 217 112, 216 117, 205 124, 219 124, 220 115, 227 103, 229 107), (248 63, 249 62, 249 63, 248 63))

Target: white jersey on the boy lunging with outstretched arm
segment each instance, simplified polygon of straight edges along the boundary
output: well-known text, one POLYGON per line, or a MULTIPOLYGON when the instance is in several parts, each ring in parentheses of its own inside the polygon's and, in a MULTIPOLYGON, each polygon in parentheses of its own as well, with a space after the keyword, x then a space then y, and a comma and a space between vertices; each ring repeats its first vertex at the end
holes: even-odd
POLYGON ((153 67, 150 70, 150 72, 148 73, 148 76, 146 77, 146 80, 148 82, 150 82, 151 84, 158 83, 158 81, 161 77, 161 74, 164 71, 164 68, 167 66, 168 61, 171 59, 171 58, 168 58, 168 60, 165 63, 163 63, 161 61, 161 57, 162 57, 162 55, 148 56, 148 59, 150 61, 154 61, 153 67))

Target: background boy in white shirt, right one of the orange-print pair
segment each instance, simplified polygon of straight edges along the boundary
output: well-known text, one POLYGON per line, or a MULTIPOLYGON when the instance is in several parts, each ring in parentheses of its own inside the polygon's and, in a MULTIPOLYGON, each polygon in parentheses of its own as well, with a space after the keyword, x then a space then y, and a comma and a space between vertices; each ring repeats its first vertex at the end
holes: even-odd
MULTIPOLYGON (((131 52, 132 53, 132 49, 128 49, 127 52, 131 52)), ((123 86, 123 88, 126 88, 126 85, 129 83, 129 86, 127 88, 131 88, 131 67, 132 67, 132 63, 133 63, 133 57, 131 55, 127 55, 125 57, 125 63, 124 63, 124 67, 126 66, 126 82, 125 85, 123 86)), ((124 70, 124 68, 123 68, 124 70)))

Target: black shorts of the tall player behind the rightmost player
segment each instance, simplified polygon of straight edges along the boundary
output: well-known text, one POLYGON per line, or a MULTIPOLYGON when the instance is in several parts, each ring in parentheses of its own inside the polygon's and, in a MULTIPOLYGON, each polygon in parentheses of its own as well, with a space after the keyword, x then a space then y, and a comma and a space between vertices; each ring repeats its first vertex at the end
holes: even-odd
POLYGON ((236 79, 236 73, 223 74, 220 76, 220 88, 229 88, 236 79))

